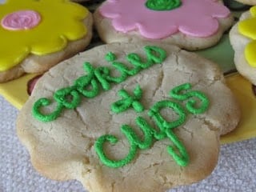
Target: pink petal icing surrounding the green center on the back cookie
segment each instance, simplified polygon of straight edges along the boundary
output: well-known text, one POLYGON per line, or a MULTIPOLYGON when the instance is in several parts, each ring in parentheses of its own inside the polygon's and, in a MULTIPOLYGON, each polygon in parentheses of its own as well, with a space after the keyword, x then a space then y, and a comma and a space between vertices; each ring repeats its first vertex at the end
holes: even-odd
POLYGON ((139 30, 145 38, 166 38, 178 31, 194 37, 209 37, 218 30, 218 19, 230 10, 215 0, 182 0, 174 10, 147 9, 146 0, 108 0, 100 7, 103 17, 111 18, 115 30, 139 30))

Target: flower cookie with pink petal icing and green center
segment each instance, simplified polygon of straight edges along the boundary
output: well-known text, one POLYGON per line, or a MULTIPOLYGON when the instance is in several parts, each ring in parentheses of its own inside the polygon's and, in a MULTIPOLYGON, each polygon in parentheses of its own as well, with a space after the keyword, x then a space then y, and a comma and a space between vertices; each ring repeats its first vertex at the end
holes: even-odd
POLYGON ((166 42, 187 50, 213 46, 233 21, 215 0, 107 0, 94 13, 104 42, 166 42))

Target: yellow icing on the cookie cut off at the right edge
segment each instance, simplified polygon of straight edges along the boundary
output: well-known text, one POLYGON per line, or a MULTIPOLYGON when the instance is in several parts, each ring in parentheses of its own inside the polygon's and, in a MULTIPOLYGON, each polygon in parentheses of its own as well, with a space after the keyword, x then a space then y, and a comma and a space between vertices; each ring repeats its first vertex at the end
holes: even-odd
POLYGON ((256 6, 250 8, 250 14, 251 18, 238 22, 238 31, 247 38, 252 39, 252 41, 246 45, 244 53, 246 56, 246 61, 249 63, 249 65, 256 67, 256 6))

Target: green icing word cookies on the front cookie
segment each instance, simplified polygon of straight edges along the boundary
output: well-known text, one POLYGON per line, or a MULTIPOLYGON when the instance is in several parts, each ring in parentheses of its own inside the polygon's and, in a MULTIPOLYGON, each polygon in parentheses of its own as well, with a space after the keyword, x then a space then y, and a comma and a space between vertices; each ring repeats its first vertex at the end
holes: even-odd
MULTIPOLYGON (((128 54, 126 60, 134 66, 126 66, 122 62, 116 61, 116 55, 109 52, 105 56, 107 62, 112 62, 111 65, 119 72, 119 77, 111 76, 111 70, 107 66, 99 66, 94 68, 90 62, 85 62, 83 69, 86 75, 79 77, 74 81, 74 85, 57 90, 54 93, 54 101, 58 103, 57 109, 52 114, 42 114, 41 108, 50 105, 50 100, 47 98, 39 98, 33 106, 34 118, 42 122, 50 122, 58 118, 63 109, 74 109, 81 102, 81 96, 85 98, 94 98, 100 93, 100 86, 102 90, 110 90, 111 83, 124 82, 129 76, 138 74, 153 64, 162 63, 166 58, 166 51, 158 46, 145 46, 146 62, 142 62, 142 58, 138 54, 128 54)), ((137 98, 136 98, 137 99, 137 98)), ((136 100, 135 99, 135 100, 136 100)), ((133 101, 132 106, 135 110, 141 111, 142 106, 139 102, 133 101)))

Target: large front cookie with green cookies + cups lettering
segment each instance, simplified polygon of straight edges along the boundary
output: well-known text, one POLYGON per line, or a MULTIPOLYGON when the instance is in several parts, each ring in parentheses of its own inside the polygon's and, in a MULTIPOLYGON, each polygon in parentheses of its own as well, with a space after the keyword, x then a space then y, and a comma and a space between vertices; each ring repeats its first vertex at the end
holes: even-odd
POLYGON ((206 178, 239 118, 214 63, 176 46, 113 43, 39 78, 17 131, 46 177, 91 192, 163 192, 206 178))

